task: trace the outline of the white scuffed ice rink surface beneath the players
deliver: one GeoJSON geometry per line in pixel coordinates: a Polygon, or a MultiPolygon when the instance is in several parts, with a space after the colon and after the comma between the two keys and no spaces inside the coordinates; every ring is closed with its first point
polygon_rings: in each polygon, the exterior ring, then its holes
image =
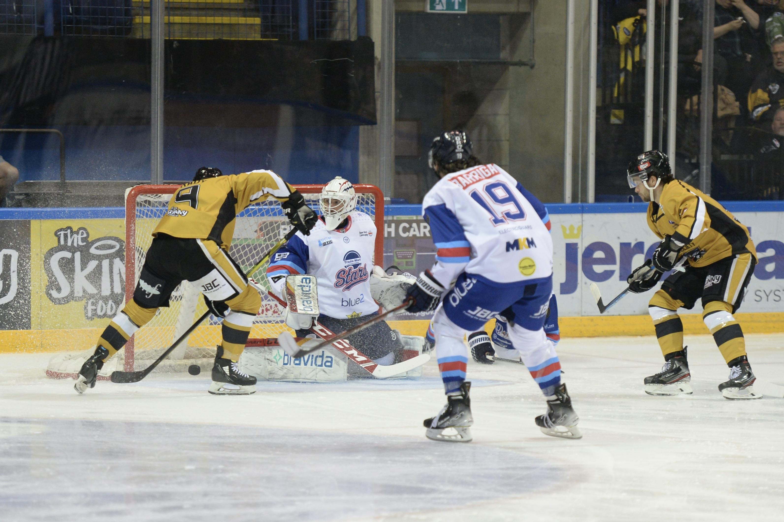
{"type": "MultiPolygon", "coordinates": [[[[784,384],[784,335],[746,337],[784,384]]],[[[728,401],[710,336],[688,336],[694,394],[652,397],[653,337],[564,339],[583,439],[547,437],[520,365],[470,362],[474,441],[424,437],[445,403],[416,381],[260,383],[209,374],[48,380],[50,355],[0,355],[0,520],[784,520],[784,399],[728,401]]]]}

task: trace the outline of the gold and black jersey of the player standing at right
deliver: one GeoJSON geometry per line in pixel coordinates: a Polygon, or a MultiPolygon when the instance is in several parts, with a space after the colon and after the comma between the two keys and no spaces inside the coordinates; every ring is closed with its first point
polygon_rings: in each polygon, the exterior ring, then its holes
{"type": "Polygon", "coordinates": [[[757,258],[746,226],[712,197],[678,180],[664,185],[659,203],[648,203],[648,226],[659,238],[669,234],[684,243],[681,255],[694,267],[746,252],[757,258]]]}

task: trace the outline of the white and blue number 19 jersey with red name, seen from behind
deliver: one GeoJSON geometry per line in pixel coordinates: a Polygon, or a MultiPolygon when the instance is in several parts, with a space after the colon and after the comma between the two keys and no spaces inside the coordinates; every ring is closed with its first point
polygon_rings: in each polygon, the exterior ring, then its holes
{"type": "Polygon", "coordinates": [[[441,178],[426,194],[422,211],[437,248],[430,272],[447,288],[460,272],[494,283],[553,274],[544,205],[498,165],[441,178]]]}

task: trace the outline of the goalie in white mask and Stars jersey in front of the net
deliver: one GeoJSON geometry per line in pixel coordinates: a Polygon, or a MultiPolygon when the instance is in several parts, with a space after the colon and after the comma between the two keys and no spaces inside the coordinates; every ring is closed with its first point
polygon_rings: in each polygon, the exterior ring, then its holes
{"type": "MultiPolygon", "coordinates": [[[[272,290],[284,297],[287,275],[315,275],[321,311],[318,321],[340,333],[367,321],[368,315],[379,313],[379,304],[373,299],[371,290],[371,279],[376,277],[373,253],[378,231],[368,214],[354,210],[357,196],[346,179],[337,177],[325,185],[319,203],[322,215],[310,236],[297,232],[289,239],[272,257],[267,279],[272,290]]],[[[313,324],[311,315],[293,313],[288,308],[285,313],[286,324],[296,331],[297,337],[314,337],[309,330],[313,324]]],[[[348,340],[380,365],[401,362],[403,343],[408,343],[383,321],[355,333],[348,340]]],[[[352,371],[356,376],[370,375],[353,366],[350,366],[351,370],[359,370],[352,371]]]]}

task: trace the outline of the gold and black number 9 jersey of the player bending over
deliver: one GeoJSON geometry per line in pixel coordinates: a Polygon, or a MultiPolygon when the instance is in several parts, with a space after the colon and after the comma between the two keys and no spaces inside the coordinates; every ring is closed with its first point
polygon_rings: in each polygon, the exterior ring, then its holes
{"type": "Polygon", "coordinates": [[[294,191],[271,171],[251,171],[189,182],[173,194],[169,209],[152,232],[169,236],[212,239],[227,250],[234,224],[251,203],[270,196],[284,202],[294,191]]]}

